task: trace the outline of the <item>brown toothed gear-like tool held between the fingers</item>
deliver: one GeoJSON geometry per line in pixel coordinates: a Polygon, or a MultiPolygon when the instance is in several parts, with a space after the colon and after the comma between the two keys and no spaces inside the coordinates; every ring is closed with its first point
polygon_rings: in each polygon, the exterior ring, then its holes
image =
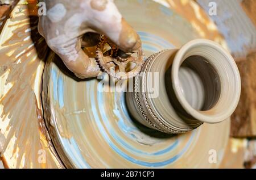
{"type": "Polygon", "coordinates": [[[125,53],[104,35],[100,37],[96,55],[96,61],[101,70],[117,79],[137,76],[144,64],[142,49],[137,52],[125,53]]]}

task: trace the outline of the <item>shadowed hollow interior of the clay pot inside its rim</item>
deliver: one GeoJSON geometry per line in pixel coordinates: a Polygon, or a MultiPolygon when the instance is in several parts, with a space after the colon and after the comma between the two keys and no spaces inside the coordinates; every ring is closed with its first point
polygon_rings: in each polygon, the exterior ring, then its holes
{"type": "Polygon", "coordinates": [[[202,56],[189,56],[183,61],[179,81],[185,99],[196,110],[207,111],[220,98],[220,77],[202,56]]]}

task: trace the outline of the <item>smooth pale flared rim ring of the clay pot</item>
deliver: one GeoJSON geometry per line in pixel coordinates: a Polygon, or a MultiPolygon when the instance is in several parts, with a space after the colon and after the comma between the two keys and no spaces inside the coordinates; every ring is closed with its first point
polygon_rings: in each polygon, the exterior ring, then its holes
{"type": "Polygon", "coordinates": [[[172,64],[172,82],[173,82],[172,86],[174,88],[175,95],[176,95],[179,103],[181,104],[181,106],[184,108],[184,110],[189,115],[193,116],[193,118],[196,118],[197,120],[200,120],[201,122],[219,123],[225,119],[228,119],[230,117],[230,115],[233,114],[234,110],[237,107],[239,99],[240,99],[241,78],[240,78],[240,73],[237,68],[236,62],[234,61],[234,59],[230,55],[230,53],[228,51],[226,51],[224,48],[222,48],[220,44],[218,44],[214,41],[207,40],[207,39],[192,40],[180,48],[180,50],[177,52],[177,54],[174,58],[174,62],[172,64]],[[184,57],[185,53],[187,53],[189,51],[189,49],[191,49],[193,47],[198,47],[199,45],[203,45],[204,47],[207,46],[210,48],[214,48],[218,52],[220,52],[221,55],[223,55],[226,58],[227,63],[229,63],[229,65],[232,67],[232,72],[234,74],[236,92],[234,93],[235,95],[232,99],[232,103],[229,104],[229,107],[226,107],[225,110],[223,110],[221,113],[218,113],[218,114],[210,114],[210,113],[207,114],[207,111],[209,111],[209,110],[200,111],[200,110],[196,110],[195,108],[193,108],[185,99],[185,97],[182,93],[182,90],[180,88],[181,86],[180,86],[180,82],[179,82],[179,68],[184,61],[183,57],[184,57]]]}

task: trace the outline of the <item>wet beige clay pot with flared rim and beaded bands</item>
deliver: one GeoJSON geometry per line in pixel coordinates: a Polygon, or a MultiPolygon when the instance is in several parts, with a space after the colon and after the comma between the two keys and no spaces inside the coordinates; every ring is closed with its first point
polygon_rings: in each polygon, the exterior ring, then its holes
{"type": "Polygon", "coordinates": [[[150,56],[126,102],[130,114],[147,127],[184,133],[228,119],[240,91],[232,56],[217,43],[198,39],[150,56]]]}

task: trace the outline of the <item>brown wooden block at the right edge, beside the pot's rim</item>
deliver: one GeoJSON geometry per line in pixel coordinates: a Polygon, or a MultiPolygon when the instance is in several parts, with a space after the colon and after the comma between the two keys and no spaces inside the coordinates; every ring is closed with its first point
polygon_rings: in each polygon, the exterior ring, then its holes
{"type": "Polygon", "coordinates": [[[232,115],[231,136],[256,137],[256,51],[237,59],[242,90],[240,102],[232,115]]]}

